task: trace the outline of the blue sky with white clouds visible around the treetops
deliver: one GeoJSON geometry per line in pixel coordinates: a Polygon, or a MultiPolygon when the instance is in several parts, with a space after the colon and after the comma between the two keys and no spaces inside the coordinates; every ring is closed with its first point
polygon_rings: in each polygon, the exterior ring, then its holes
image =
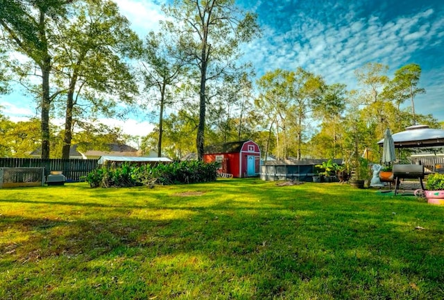
{"type": "MultiPolygon", "coordinates": [[[[158,30],[160,5],[169,0],[117,0],[121,13],[144,37],[158,30]]],[[[256,12],[262,38],[245,46],[257,76],[277,68],[302,67],[327,83],[356,88],[355,69],[383,63],[389,76],[403,65],[422,67],[416,112],[444,121],[444,4],[442,0],[237,0],[256,12]]],[[[3,112],[18,119],[35,115],[35,104],[19,92],[0,96],[3,112]]],[[[405,104],[406,106],[409,103],[405,104]]],[[[112,124],[112,120],[108,120],[112,124]]],[[[144,116],[114,122],[126,133],[145,135],[153,128],[144,116]]]]}

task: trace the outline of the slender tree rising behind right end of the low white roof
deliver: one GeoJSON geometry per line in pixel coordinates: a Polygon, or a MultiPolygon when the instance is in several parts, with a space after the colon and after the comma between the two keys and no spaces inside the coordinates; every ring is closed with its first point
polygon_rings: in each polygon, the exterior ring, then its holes
{"type": "MultiPolygon", "coordinates": [[[[180,37],[179,37],[180,38],[180,37]]],[[[159,108],[157,136],[157,157],[162,156],[162,135],[164,110],[173,101],[176,85],[187,70],[188,56],[180,49],[178,42],[164,33],[148,33],[142,51],[142,76],[145,88],[157,91],[154,94],[159,108]]]]}

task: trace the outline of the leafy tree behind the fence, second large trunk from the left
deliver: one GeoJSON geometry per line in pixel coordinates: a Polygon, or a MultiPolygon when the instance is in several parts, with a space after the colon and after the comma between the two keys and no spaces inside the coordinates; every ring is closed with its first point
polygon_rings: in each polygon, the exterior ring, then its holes
{"type": "MultiPolygon", "coordinates": [[[[58,26],[64,36],[55,51],[56,83],[66,95],[62,158],[69,158],[74,126],[97,114],[114,116],[119,101],[131,103],[137,85],[127,56],[140,42],[112,1],[85,0],[74,6],[71,22],[58,26]]],[[[85,128],[83,128],[85,129],[85,128]]]]}

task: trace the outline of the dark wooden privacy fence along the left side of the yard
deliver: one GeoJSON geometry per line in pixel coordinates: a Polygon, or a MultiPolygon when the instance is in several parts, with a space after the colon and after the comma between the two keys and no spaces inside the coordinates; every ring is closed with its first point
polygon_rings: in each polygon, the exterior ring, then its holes
{"type": "Polygon", "coordinates": [[[0,167],[44,167],[45,176],[51,171],[62,171],[67,182],[77,182],[81,176],[86,176],[97,168],[97,161],[96,159],[0,158],[0,167]]]}

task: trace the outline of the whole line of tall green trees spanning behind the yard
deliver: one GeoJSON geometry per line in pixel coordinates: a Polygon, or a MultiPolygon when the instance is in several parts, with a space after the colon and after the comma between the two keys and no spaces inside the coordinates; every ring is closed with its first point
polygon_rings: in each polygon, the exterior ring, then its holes
{"type": "Polygon", "coordinates": [[[196,152],[200,160],[205,144],[247,139],[278,158],[356,158],[385,128],[437,125],[415,113],[425,92],[416,64],[388,78],[388,66],[368,63],[355,72],[355,90],[301,67],[255,80],[241,46],[261,28],[234,0],[175,0],[162,7],[160,31],[144,38],[112,1],[0,0],[0,7],[0,93],[18,83],[40,112],[17,124],[0,115],[3,136],[11,136],[0,142],[2,156],[26,155],[38,143],[42,158],[69,158],[71,144],[126,142],[97,121],[131,112],[156,118],[155,131],[139,140],[142,151],[196,152]],[[411,106],[402,110],[405,101],[411,106]],[[64,126],[53,126],[53,117],[64,126]],[[34,136],[20,140],[31,134],[27,126],[34,136]]]}

